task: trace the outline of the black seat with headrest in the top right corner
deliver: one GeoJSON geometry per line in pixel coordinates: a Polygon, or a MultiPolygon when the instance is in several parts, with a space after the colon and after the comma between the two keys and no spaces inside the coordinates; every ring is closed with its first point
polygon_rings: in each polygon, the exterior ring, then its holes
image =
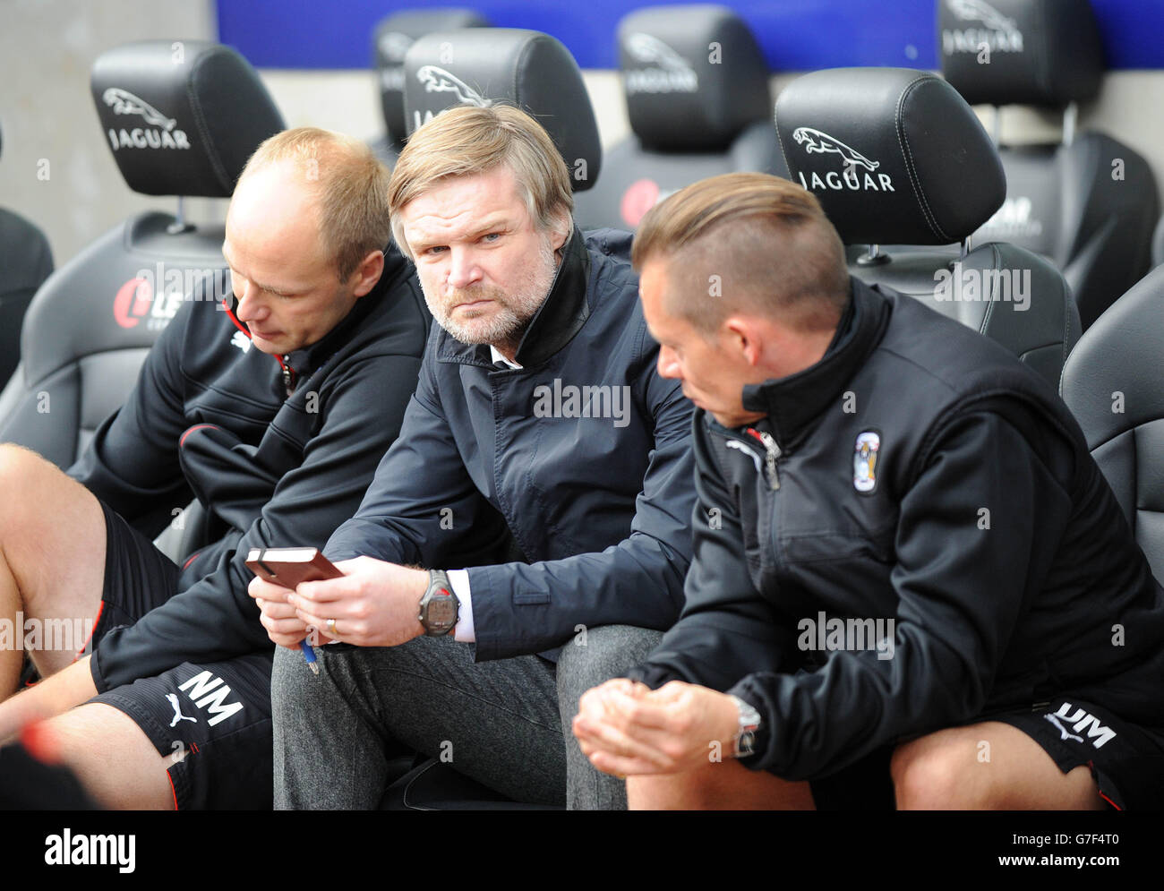
{"type": "Polygon", "coordinates": [[[1063,111],[1063,141],[1000,148],[1007,199],[974,234],[1046,256],[1086,330],[1149,269],[1159,214],[1151,168],[1102,133],[1074,133],[1076,104],[1099,93],[1103,49],[1087,0],[941,0],[946,79],[974,105],[1063,111]],[[985,49],[984,49],[985,47],[985,49]]]}

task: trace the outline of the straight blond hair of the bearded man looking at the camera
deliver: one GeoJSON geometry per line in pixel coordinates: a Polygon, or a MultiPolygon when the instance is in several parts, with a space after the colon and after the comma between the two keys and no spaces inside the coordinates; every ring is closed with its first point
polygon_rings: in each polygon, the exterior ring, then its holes
{"type": "Polygon", "coordinates": [[[570,175],[545,128],[510,105],[457,106],[413,133],[392,169],[388,203],[392,235],[404,255],[412,257],[399,217],[409,201],[448,177],[488,174],[502,165],[513,171],[518,193],[538,228],[569,234],[570,175]]]}

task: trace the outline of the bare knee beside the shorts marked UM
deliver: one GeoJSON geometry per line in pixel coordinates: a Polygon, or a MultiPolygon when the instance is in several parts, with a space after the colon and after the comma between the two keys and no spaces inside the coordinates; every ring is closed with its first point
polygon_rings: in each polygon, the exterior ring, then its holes
{"type": "Polygon", "coordinates": [[[938,730],[899,745],[889,772],[903,811],[1106,806],[1086,764],[1064,773],[1042,745],[999,721],[938,730]]]}

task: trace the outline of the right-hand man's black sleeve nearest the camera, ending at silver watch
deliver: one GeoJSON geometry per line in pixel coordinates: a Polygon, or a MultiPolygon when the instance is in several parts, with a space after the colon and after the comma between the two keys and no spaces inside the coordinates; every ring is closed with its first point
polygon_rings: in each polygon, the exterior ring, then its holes
{"type": "Polygon", "coordinates": [[[731,692],[764,720],[745,764],[807,779],[980,714],[1070,515],[1069,493],[1007,420],[949,424],[901,502],[890,657],[838,651],[814,672],[744,678],[731,692]]]}

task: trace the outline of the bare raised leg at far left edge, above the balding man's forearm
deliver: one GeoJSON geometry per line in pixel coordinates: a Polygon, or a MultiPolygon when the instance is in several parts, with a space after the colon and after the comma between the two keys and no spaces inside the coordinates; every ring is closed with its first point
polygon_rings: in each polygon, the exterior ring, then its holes
{"type": "MultiPolygon", "coordinates": [[[[23,618],[64,620],[71,646],[29,651],[42,676],[69,665],[85,641],[73,639],[92,627],[105,578],[105,517],[88,489],[35,452],[0,445],[0,620],[9,620],[23,639],[23,618]],[[88,621],[86,621],[88,620],[88,621]],[[73,634],[76,631],[77,634],[73,634]]],[[[57,624],[58,629],[64,625],[57,624]]],[[[0,701],[20,681],[24,651],[0,650],[0,701]]]]}

